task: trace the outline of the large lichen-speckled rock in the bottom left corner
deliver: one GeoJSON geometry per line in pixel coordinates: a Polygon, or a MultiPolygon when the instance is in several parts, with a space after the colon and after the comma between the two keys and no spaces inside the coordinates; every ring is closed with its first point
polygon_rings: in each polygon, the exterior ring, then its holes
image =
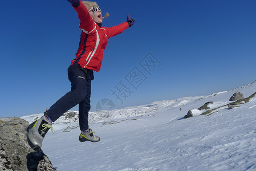
{"type": "Polygon", "coordinates": [[[49,158],[27,143],[29,123],[19,117],[0,118],[0,170],[55,170],[49,158]]]}

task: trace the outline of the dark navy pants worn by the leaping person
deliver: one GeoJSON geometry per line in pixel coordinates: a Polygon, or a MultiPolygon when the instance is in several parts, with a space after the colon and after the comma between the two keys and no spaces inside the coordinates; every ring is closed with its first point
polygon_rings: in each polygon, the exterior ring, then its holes
{"type": "Polygon", "coordinates": [[[94,72],[73,64],[68,68],[68,79],[71,82],[71,91],[61,97],[54,105],[44,112],[52,121],[57,120],[64,112],[79,104],[80,130],[88,129],[88,112],[91,109],[91,80],[94,72]]]}

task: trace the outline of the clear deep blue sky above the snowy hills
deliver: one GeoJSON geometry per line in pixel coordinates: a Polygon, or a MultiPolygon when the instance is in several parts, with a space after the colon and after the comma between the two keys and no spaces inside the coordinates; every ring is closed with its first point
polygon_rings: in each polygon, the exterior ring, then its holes
{"type": "MultiPolygon", "coordinates": [[[[109,39],[92,81],[91,111],[101,99],[123,108],[256,80],[254,0],[97,3],[110,14],[104,27],[125,22],[127,14],[136,22],[109,39]]],[[[0,18],[0,117],[42,113],[70,91],[78,16],[67,1],[14,0],[2,2],[0,18]]]]}

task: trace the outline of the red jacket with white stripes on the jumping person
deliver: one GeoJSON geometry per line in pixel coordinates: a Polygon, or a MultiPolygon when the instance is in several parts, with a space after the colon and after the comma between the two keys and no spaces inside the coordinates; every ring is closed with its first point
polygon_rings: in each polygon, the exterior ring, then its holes
{"type": "Polygon", "coordinates": [[[82,30],[78,52],[74,63],[80,64],[83,68],[94,71],[100,71],[103,60],[103,51],[107,46],[108,39],[120,34],[129,27],[127,22],[114,27],[99,27],[89,14],[86,6],[80,3],[80,6],[74,7],[78,18],[80,19],[79,28],[82,30]]]}

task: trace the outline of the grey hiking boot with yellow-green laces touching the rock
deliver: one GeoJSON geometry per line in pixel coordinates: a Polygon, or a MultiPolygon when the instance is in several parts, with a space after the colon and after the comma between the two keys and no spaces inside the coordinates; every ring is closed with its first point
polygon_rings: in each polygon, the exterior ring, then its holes
{"type": "Polygon", "coordinates": [[[46,120],[45,116],[34,121],[34,123],[27,127],[27,142],[32,149],[36,151],[40,150],[43,138],[50,128],[52,131],[51,123],[46,120]]]}

